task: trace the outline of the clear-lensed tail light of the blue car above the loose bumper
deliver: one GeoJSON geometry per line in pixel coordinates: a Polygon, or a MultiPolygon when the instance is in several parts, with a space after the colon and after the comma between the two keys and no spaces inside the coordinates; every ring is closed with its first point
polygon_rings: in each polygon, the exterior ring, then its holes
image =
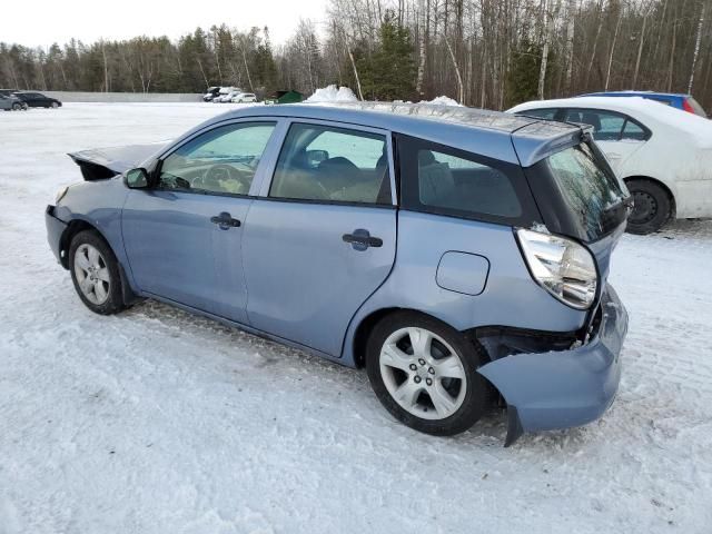
{"type": "Polygon", "coordinates": [[[589,249],[571,239],[538,231],[520,229],[516,236],[534,280],[573,308],[591,307],[599,275],[589,249]]]}

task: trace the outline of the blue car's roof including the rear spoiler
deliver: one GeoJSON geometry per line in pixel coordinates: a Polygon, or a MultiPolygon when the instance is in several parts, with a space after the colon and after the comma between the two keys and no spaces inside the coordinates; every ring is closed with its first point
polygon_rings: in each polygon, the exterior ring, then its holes
{"type": "Polygon", "coordinates": [[[385,102],[254,106],[228,111],[198,129],[244,117],[304,118],[385,129],[523,167],[565,145],[581,142],[582,135],[580,126],[501,111],[385,102]]]}

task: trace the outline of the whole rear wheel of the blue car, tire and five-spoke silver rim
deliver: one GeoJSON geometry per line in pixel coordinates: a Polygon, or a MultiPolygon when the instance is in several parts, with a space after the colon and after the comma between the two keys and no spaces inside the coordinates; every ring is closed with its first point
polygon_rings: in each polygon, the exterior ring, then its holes
{"type": "Polygon", "coordinates": [[[384,318],[366,348],[368,378],[384,407],[411,428],[439,436],[464,432],[484,414],[481,364],[461,333],[415,312],[384,318]]]}

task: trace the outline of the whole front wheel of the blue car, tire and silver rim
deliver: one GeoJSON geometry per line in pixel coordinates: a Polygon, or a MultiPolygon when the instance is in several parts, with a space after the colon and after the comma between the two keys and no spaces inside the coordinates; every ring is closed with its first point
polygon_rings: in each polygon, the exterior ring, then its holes
{"type": "Polygon", "coordinates": [[[125,308],[119,264],[99,234],[77,234],[69,247],[69,268],[81,301],[96,314],[110,315],[125,308]]]}

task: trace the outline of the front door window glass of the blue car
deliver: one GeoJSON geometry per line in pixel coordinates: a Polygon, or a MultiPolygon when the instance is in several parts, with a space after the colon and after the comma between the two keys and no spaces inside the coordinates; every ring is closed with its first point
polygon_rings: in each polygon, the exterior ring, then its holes
{"type": "Polygon", "coordinates": [[[275,122],[228,125],[210,130],[168,156],[159,189],[247,195],[275,122]]]}

